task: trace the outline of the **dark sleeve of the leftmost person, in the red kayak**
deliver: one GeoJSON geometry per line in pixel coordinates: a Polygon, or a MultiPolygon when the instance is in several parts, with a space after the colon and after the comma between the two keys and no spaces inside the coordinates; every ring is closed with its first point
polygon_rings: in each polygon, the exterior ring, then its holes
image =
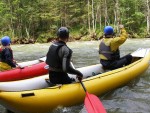
{"type": "Polygon", "coordinates": [[[16,67],[16,64],[13,62],[13,58],[12,58],[12,53],[9,49],[5,49],[4,52],[4,56],[5,56],[5,62],[10,65],[11,67],[16,67]]]}

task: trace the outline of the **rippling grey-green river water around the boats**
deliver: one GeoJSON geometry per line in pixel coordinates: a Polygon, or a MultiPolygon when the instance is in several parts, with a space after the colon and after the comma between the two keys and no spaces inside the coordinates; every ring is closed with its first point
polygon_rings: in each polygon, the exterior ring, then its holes
{"type": "MultiPolygon", "coordinates": [[[[99,41],[68,42],[67,44],[73,50],[72,58],[76,68],[99,63],[99,41]]],[[[12,45],[14,58],[18,62],[38,59],[46,55],[49,45],[50,43],[12,45]]],[[[150,39],[128,39],[120,47],[121,56],[138,48],[150,48],[150,39]]],[[[108,92],[100,99],[107,113],[150,113],[150,68],[139,78],[124,87],[108,92]]],[[[0,106],[0,113],[4,111],[5,108],[0,106]]],[[[81,104],[58,108],[53,113],[86,113],[86,110],[84,104],[81,104]]]]}

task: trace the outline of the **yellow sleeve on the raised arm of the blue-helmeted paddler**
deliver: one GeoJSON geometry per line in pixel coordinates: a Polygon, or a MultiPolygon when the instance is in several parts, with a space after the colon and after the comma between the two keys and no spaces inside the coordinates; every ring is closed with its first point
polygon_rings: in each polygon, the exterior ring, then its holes
{"type": "Polygon", "coordinates": [[[112,39],[111,50],[116,51],[119,48],[119,46],[122,45],[126,41],[127,37],[128,35],[127,35],[126,30],[122,28],[120,37],[115,37],[112,39]]]}

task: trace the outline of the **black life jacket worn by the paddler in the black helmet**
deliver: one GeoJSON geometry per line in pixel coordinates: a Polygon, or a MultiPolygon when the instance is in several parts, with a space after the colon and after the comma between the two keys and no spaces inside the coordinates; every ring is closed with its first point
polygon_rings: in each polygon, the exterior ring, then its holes
{"type": "Polygon", "coordinates": [[[50,68],[62,70],[62,59],[59,57],[58,52],[62,46],[66,46],[64,42],[53,43],[47,53],[46,63],[50,68]]]}

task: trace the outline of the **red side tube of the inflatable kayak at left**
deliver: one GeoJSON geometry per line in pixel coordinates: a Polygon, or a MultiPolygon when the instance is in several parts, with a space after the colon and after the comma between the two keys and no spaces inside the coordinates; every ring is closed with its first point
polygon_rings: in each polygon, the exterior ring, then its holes
{"type": "Polygon", "coordinates": [[[45,69],[46,63],[39,62],[24,68],[15,68],[0,72],[0,82],[4,81],[16,81],[22,79],[28,79],[48,73],[48,69],[45,69]]]}

